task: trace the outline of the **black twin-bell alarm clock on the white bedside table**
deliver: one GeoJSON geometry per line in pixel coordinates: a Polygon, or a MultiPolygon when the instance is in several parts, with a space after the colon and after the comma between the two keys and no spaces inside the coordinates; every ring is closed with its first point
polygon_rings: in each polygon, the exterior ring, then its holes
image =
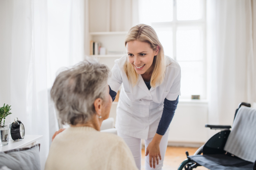
{"type": "Polygon", "coordinates": [[[13,140],[20,140],[25,136],[25,128],[17,117],[15,119],[11,126],[11,136],[13,140]],[[17,119],[17,121],[15,121],[15,119],[17,119]]]}

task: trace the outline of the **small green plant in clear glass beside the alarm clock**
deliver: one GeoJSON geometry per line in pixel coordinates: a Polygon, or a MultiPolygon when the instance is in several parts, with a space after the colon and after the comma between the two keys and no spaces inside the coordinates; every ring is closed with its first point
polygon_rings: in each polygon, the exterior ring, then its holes
{"type": "Polygon", "coordinates": [[[5,104],[0,108],[0,146],[5,146],[9,143],[11,123],[5,122],[5,118],[9,114],[12,114],[10,110],[11,106],[5,104]]]}

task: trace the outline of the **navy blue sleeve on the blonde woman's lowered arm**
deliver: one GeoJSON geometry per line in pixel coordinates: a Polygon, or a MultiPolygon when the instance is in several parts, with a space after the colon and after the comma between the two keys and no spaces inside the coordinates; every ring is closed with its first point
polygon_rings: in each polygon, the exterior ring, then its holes
{"type": "Polygon", "coordinates": [[[170,123],[172,122],[172,118],[174,116],[178,102],[179,102],[179,96],[174,101],[164,99],[163,114],[160,119],[159,125],[157,127],[157,134],[164,135],[166,133],[170,123]]]}

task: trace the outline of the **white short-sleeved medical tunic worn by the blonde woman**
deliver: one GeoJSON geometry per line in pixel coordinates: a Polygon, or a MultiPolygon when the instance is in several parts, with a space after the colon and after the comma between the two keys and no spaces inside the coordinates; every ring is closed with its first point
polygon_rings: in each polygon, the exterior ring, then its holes
{"type": "Polygon", "coordinates": [[[116,108],[115,127],[119,133],[140,139],[154,137],[163,113],[164,99],[176,100],[180,95],[180,65],[171,57],[167,60],[164,81],[150,90],[141,75],[134,87],[129,82],[124,71],[126,55],[115,60],[108,85],[115,92],[122,85],[116,108]]]}

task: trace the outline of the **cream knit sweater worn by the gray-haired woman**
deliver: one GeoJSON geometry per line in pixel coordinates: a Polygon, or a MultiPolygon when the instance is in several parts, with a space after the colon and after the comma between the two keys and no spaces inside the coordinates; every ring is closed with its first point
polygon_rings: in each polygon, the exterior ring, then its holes
{"type": "Polygon", "coordinates": [[[45,170],[137,170],[119,136],[92,127],[69,127],[53,140],[45,170]]]}

